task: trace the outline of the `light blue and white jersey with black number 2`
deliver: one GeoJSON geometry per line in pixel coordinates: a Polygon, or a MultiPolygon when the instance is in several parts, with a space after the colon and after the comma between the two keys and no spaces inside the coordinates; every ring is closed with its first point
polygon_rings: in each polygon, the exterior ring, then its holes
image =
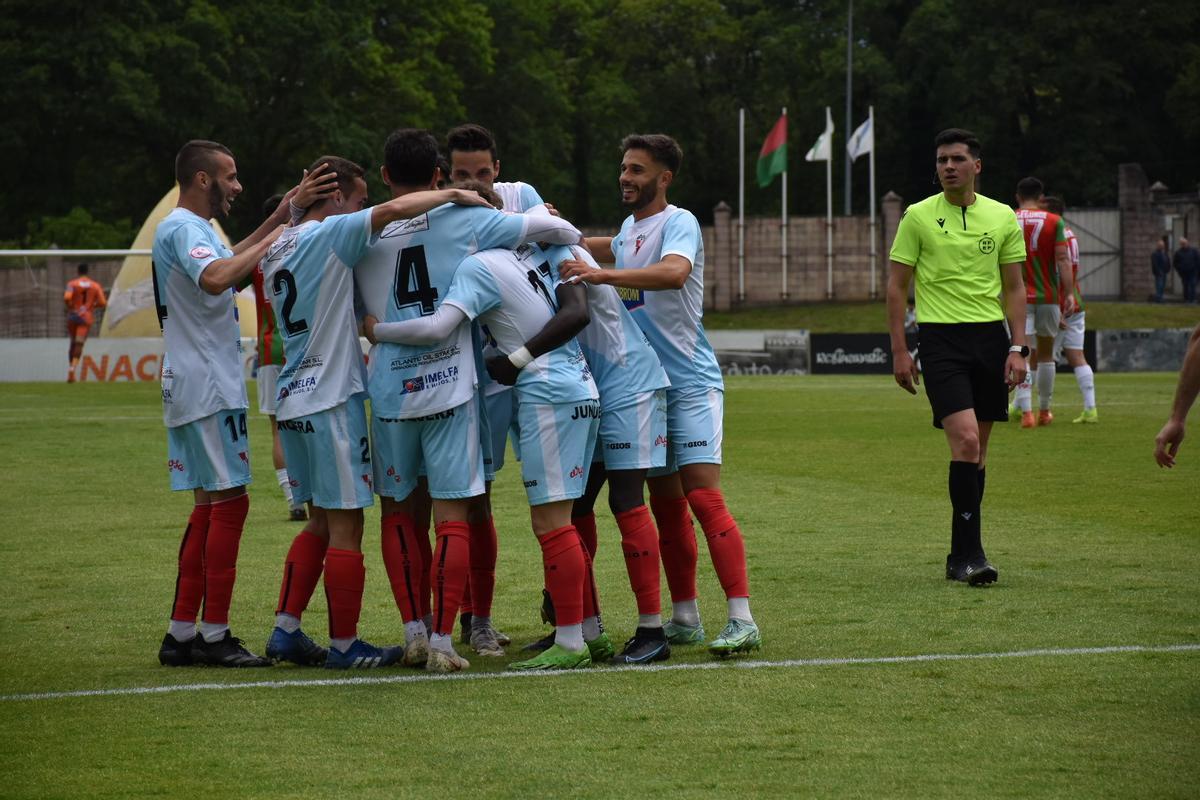
{"type": "Polygon", "coordinates": [[[277,420],[324,411],[366,391],[350,270],[371,237],[371,209],[364,209],[288,228],[266,251],[263,287],[286,359],[277,420]]]}

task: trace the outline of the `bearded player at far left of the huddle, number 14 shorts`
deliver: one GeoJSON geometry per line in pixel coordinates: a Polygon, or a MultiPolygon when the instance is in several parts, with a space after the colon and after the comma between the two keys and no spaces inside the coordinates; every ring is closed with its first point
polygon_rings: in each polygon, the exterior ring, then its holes
{"type": "Polygon", "coordinates": [[[227,216],[241,193],[229,149],[188,142],[175,157],[175,180],[179,204],[155,230],[151,278],[166,343],[167,468],[172,488],[191,489],[194,506],[179,547],[175,597],[158,661],[172,667],[265,667],[269,660],[247,651],[229,632],[238,547],[250,511],[247,401],[233,290],[280,235],[288,203],[281,201],[229,249],[209,222],[227,216]]]}

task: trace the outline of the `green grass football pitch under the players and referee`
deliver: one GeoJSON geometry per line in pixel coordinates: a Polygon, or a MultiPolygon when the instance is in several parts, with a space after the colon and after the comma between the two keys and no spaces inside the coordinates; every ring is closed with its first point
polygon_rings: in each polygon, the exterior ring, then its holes
{"type": "MultiPolygon", "coordinates": [[[[1100,374],[1100,425],[1085,427],[1061,375],[1054,426],[997,427],[983,524],[1001,579],[970,589],[942,577],[948,455],[923,396],[886,375],[728,380],[724,485],[766,639],[757,667],[702,669],[709,657],[680,648],[682,668],[653,673],[512,678],[472,657],[496,679],[397,668],[358,685],[42,699],[14,696],[343,675],[160,667],[191,500],[167,489],[157,387],[6,385],[0,796],[1196,796],[1200,651],[1070,652],[1200,643],[1200,427],[1175,470],[1151,456],[1174,383],[1100,374]],[[1038,649],[1068,652],[814,662],[1038,649]],[[389,676],[415,680],[376,680],[389,676]]],[[[251,437],[232,622],[260,651],[296,525],[265,417],[251,437]]],[[[523,643],[545,628],[516,479],[510,464],[496,487],[493,616],[523,643]]],[[[619,644],[634,604],[599,518],[619,644]]],[[[368,510],[361,632],[389,643],[402,631],[377,521],[368,510]]],[[[703,545],[700,588],[715,633],[703,545]]],[[[324,638],[319,590],[305,627],[324,638]]]]}

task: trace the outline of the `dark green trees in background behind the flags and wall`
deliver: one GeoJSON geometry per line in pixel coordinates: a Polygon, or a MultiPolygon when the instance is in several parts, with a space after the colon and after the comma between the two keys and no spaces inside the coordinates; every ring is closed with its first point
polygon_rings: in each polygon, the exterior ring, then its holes
{"type": "MultiPolygon", "coordinates": [[[[787,106],[788,206],[824,211],[824,166],[803,155],[833,107],[842,209],[846,0],[0,0],[0,241],[127,247],[190,138],[227,144],[241,235],[322,154],[376,175],[396,127],[491,128],[502,179],[526,180],[580,224],[616,227],[618,143],[665,132],[684,149],[672,200],[702,219],[737,200],[746,108],[746,211],[787,106]]],[[[1172,191],[1200,180],[1200,5],[856,0],[853,125],[875,106],[877,186],[935,191],[934,134],[984,143],[984,193],[1037,174],[1074,205],[1114,205],[1116,164],[1172,191]]],[[[853,209],[866,212],[866,167],[853,209]]]]}

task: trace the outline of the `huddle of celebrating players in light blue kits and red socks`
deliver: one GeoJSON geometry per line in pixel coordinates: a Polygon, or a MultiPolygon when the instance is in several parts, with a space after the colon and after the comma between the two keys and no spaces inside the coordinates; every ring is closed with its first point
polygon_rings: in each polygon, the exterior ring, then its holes
{"type": "Polygon", "coordinates": [[[728,604],[708,650],[761,646],[745,547],[720,488],[724,386],[701,323],[703,242],[696,218],[666,199],[683,154],[661,134],[626,137],[622,150],[630,216],[611,237],[583,237],[527,184],[496,182],[494,140],[464,125],[450,131],[446,158],[428,132],[395,131],[380,170],[391,199],[370,207],[361,167],[318,158],[230,249],[209,219],[241,191],[233,155],[184,145],[179,206],[154,243],[168,468],[172,488],[196,498],[163,664],[456,672],[469,667],[454,646],[460,619],[474,652],[504,656],[511,642],[491,619],[490,495],[509,438],[541,548],[542,616],[554,626],[512,668],[644,664],[668,658],[672,644],[706,642],[694,516],[728,604]],[[455,185],[439,188],[446,173],[455,185]],[[308,504],[265,657],[228,625],[250,482],[233,291],[256,269],[283,356],[260,397],[289,499],[308,504]],[[372,345],[366,362],[360,335],[372,345]],[[637,603],[620,652],[592,569],[605,482],[637,603]],[[358,637],[362,509],[376,495],[404,628],[396,646],[358,637]],[[301,627],[322,579],[328,648],[301,627]]]}

